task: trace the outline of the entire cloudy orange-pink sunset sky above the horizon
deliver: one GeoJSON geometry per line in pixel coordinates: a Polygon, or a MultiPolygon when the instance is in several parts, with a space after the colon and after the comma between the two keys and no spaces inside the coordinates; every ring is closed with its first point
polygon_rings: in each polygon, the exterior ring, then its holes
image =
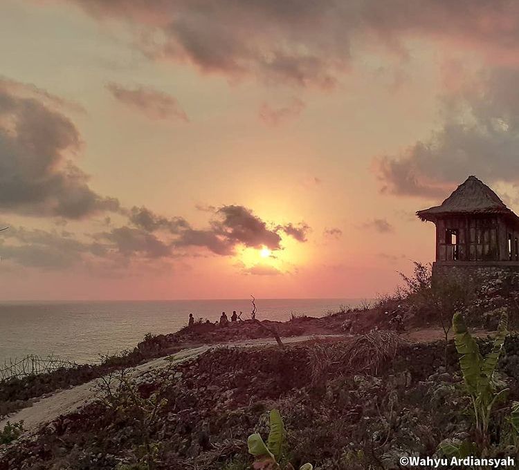
{"type": "Polygon", "coordinates": [[[519,3],[3,0],[0,299],[361,298],[519,209],[519,3]]]}

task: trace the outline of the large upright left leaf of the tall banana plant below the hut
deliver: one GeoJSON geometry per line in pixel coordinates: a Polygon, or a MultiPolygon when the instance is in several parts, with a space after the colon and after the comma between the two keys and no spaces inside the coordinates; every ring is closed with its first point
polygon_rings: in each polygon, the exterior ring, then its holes
{"type": "Polygon", "coordinates": [[[477,395],[480,388],[482,357],[480,348],[466,329],[462,314],[453,316],[454,343],[459,354],[459,367],[462,369],[463,379],[468,393],[477,395]]]}

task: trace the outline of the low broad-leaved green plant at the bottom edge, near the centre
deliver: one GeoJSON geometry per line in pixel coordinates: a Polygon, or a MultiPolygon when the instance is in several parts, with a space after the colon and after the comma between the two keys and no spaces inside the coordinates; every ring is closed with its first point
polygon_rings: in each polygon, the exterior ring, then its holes
{"type": "MultiPolygon", "coordinates": [[[[256,470],[293,470],[290,462],[283,462],[283,446],[285,439],[285,429],[280,412],[276,409],[271,411],[271,429],[268,433],[268,440],[265,442],[259,433],[248,436],[248,453],[254,456],[254,468],[256,470]],[[283,463],[283,467],[280,466],[283,463]]],[[[313,470],[311,464],[303,464],[299,470],[313,470]]]]}

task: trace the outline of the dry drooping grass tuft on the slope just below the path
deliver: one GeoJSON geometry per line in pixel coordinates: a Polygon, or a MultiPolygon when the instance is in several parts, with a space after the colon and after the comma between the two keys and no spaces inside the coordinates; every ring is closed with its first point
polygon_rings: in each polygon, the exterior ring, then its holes
{"type": "Polygon", "coordinates": [[[316,384],[330,375],[355,372],[377,374],[404,343],[394,332],[372,331],[349,341],[316,344],[310,355],[312,381],[316,384]]]}

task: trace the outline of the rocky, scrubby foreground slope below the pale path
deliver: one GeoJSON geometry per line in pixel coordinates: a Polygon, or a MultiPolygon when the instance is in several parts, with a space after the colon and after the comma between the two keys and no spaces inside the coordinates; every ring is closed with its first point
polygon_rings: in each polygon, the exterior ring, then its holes
{"type": "MultiPolygon", "coordinates": [[[[516,398],[519,339],[509,337],[506,350],[500,375],[511,392],[494,439],[516,398]]],[[[443,355],[441,342],[408,344],[385,332],[284,349],[218,348],[105,386],[99,400],[4,446],[0,469],[246,469],[246,438],[266,434],[274,407],[294,465],[396,469],[400,455],[432,455],[444,438],[470,435],[455,351],[447,367],[443,355]]]]}

